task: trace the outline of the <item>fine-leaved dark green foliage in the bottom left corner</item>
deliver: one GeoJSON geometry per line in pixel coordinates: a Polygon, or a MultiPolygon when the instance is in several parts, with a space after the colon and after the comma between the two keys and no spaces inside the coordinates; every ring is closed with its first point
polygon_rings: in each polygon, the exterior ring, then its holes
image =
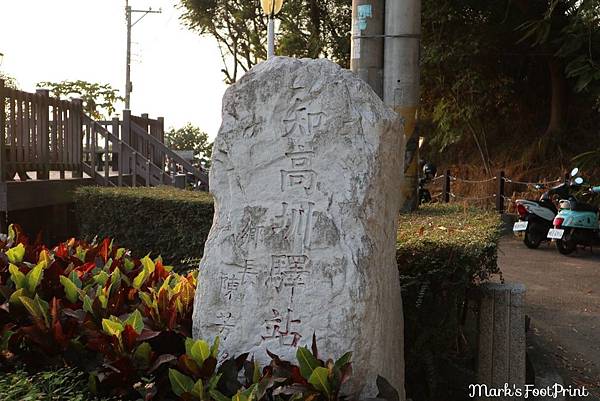
{"type": "MultiPolygon", "coordinates": [[[[87,388],[85,374],[75,368],[55,368],[31,374],[24,370],[0,374],[3,401],[109,401],[87,388]]],[[[116,401],[116,400],[115,400],[116,401]]]]}

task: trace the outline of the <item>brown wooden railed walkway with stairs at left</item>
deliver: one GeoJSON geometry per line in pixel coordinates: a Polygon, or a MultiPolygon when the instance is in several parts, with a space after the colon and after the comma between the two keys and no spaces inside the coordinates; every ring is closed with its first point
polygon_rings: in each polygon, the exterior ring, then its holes
{"type": "Polygon", "coordinates": [[[164,144],[164,120],[147,114],[94,121],[82,101],[27,93],[0,80],[0,212],[69,203],[82,185],[208,189],[205,171],[164,144]]]}

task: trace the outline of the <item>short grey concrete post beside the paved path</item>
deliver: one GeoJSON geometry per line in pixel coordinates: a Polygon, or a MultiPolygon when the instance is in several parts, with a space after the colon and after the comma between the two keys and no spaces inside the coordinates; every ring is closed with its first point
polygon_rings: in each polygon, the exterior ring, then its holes
{"type": "MultiPolygon", "coordinates": [[[[480,287],[477,383],[524,388],[525,286],[487,283],[480,287]]],[[[479,398],[484,400],[486,398],[479,398]]],[[[515,398],[494,398],[494,400],[515,398]]]]}

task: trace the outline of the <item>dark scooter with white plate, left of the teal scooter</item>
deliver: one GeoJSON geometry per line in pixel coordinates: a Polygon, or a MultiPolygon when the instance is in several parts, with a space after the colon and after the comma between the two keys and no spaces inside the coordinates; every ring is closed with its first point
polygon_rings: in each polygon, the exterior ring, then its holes
{"type": "MultiPolygon", "coordinates": [[[[543,184],[536,184],[535,188],[543,189],[543,184]]],[[[558,195],[561,198],[569,196],[570,185],[562,183],[544,192],[539,201],[517,199],[517,213],[519,221],[513,225],[513,233],[523,237],[523,243],[527,248],[536,249],[542,241],[550,241],[546,238],[548,230],[553,227],[554,217],[558,209],[552,201],[552,197],[558,195]]]]}

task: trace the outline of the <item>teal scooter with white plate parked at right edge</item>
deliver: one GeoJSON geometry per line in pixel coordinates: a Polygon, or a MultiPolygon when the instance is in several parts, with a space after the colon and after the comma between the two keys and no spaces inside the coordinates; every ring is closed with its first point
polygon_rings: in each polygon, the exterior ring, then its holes
{"type": "MultiPolygon", "coordinates": [[[[573,169],[576,176],[579,169],[573,169]]],[[[575,177],[576,186],[583,184],[583,178],[575,177]]],[[[600,194],[600,186],[590,187],[589,194],[600,194]]],[[[574,196],[559,202],[559,212],[554,218],[554,228],[548,231],[548,238],[556,242],[556,248],[563,255],[577,249],[577,245],[600,245],[600,211],[598,207],[583,203],[574,196]]]]}

